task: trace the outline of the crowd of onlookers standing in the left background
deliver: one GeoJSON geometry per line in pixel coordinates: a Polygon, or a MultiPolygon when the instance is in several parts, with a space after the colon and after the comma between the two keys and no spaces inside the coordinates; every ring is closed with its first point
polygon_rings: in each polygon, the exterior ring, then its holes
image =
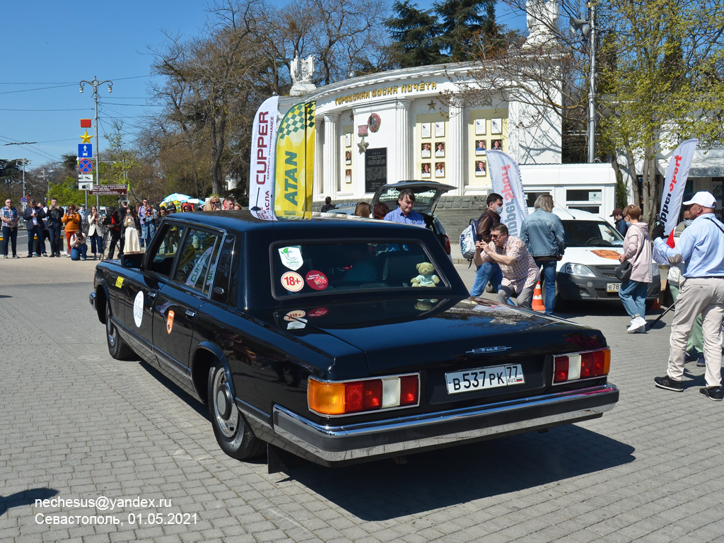
{"type": "Polygon", "coordinates": [[[87,209],[85,204],[78,207],[71,203],[62,207],[57,198],[51,198],[47,204],[31,200],[20,212],[8,198],[0,209],[3,256],[11,258],[12,251],[12,258],[20,258],[17,254],[20,219],[25,220],[25,228],[28,230],[27,258],[59,258],[64,253],[72,260],[84,261],[91,256],[93,260],[113,258],[116,250],[118,253],[144,251],[156,233],[160,220],[168,214],[177,211],[235,209],[241,209],[235,198],[228,196],[222,199],[217,194],[212,194],[203,205],[180,203],[178,208],[175,203],[154,206],[146,198],[133,205],[122,201],[118,207],[110,206],[105,215],[101,215],[96,206],[87,209]]]}

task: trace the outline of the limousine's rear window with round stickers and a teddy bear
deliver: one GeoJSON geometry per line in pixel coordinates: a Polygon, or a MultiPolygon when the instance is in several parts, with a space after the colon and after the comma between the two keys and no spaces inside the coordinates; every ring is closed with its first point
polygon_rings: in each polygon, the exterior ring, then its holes
{"type": "Polygon", "coordinates": [[[449,286],[424,245],[409,241],[276,244],[271,258],[277,298],[449,286]]]}

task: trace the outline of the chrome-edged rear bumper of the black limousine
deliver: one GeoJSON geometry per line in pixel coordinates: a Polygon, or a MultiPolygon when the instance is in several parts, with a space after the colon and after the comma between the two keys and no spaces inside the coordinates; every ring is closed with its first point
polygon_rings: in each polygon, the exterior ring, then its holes
{"type": "Polygon", "coordinates": [[[344,426],[321,425],[274,405],[278,437],[324,465],[502,437],[597,418],[618,401],[614,384],[344,426]]]}

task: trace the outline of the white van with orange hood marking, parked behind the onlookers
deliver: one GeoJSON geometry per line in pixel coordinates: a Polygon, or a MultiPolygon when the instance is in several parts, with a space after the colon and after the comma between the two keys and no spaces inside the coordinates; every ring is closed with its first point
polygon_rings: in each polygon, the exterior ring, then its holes
{"type": "MultiPolygon", "coordinates": [[[[613,270],[623,253],[623,237],[613,224],[588,211],[554,207],[553,213],[560,217],[565,231],[565,252],[557,266],[556,300],[618,300],[621,282],[613,270]]],[[[661,290],[659,266],[654,261],[651,270],[647,308],[661,290]]]]}

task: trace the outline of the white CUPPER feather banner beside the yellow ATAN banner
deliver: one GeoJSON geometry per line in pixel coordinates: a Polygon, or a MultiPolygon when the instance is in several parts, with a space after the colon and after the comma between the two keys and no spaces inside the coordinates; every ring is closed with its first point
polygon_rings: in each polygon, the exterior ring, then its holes
{"type": "Polygon", "coordinates": [[[274,152],[277,149],[279,96],[266,98],[254,116],[249,162],[249,209],[258,219],[273,221],[274,152]]]}

